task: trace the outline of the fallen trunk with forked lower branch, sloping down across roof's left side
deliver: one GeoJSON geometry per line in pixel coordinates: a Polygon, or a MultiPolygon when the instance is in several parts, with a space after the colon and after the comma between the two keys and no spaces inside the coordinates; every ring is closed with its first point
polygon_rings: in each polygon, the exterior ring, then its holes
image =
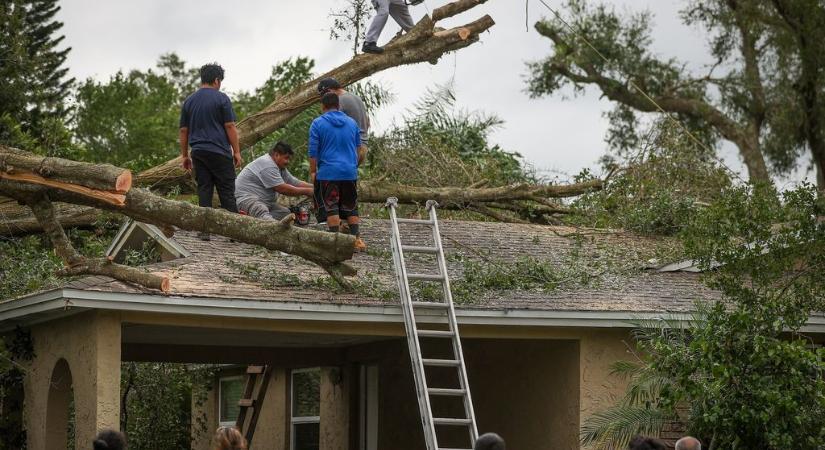
{"type": "MultiPolygon", "coordinates": [[[[59,166],[68,161],[51,158],[59,166]]],[[[289,221],[275,222],[229,213],[220,209],[200,208],[186,202],[168,200],[145,189],[131,189],[120,205],[101,199],[94,193],[77,191],[71,186],[42,186],[0,178],[0,194],[28,205],[41,228],[52,239],[57,253],[67,265],[66,274],[94,273],[140,283],[153,289],[168,291],[169,281],[113,264],[111,261],[86,259],[78,255],[65,237],[52,201],[84,205],[115,211],[136,220],[191,231],[223,235],[239,242],[260,245],[312,261],[336,280],[346,285],[344,275],[354,275],[355,269],[345,264],[352,258],[355,238],[339,233],[326,233],[291,226],[289,221]]]]}

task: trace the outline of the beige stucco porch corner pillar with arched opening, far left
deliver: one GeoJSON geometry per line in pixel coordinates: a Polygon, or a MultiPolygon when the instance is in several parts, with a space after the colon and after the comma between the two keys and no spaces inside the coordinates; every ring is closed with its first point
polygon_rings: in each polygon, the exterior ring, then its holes
{"type": "Polygon", "coordinates": [[[25,380],[25,423],[30,450],[46,450],[49,382],[65,359],[72,377],[76,448],[88,448],[98,430],[120,426],[120,316],[86,312],[32,327],[35,358],[25,380]]]}

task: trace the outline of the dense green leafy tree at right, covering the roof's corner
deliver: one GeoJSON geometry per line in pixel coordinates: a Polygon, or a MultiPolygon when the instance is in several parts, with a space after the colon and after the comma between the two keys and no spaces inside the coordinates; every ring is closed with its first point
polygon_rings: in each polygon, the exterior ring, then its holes
{"type": "Polygon", "coordinates": [[[823,215],[810,185],[781,197],[730,188],[701,210],[682,237],[725,298],[687,326],[640,329],[638,360],[616,367],[632,379],[627,397],[588,420],[582,441],[620,448],[681,419],[711,449],[821,448],[825,351],[800,330],[825,309],[823,215]]]}

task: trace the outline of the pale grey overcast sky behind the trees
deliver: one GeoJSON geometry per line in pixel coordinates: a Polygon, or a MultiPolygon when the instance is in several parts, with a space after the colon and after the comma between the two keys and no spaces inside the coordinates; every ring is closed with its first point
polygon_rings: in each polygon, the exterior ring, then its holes
{"type": "MultiPolygon", "coordinates": [[[[559,8],[563,0],[547,0],[559,8]]],[[[152,67],[158,56],[175,52],[191,65],[218,61],[226,69],[227,91],[259,86],[272,65],[294,56],[308,56],[326,71],[351,57],[348,43],[329,39],[331,9],[343,0],[62,0],[58,16],[66,43],[72,47],[71,75],[107,79],[119,69],[152,67]]],[[[427,0],[411,7],[416,20],[446,0],[427,0]]],[[[678,18],[683,1],[614,0],[622,10],[648,9],[655,15],[657,53],[678,57],[701,70],[708,62],[700,30],[678,18]]],[[[373,76],[397,94],[397,101],[376,114],[381,129],[397,120],[421,93],[454,80],[459,106],[495,113],[504,126],[493,141],[518,151],[545,175],[576,173],[597,167],[604,153],[607,127],[602,113],[610,109],[598,92],[583,97],[530,99],[525,92],[525,63],[550,52],[549,40],[532,25],[550,12],[536,0],[490,0],[470,12],[445,21],[458,25],[490,14],[496,21],[482,42],[448,55],[433,66],[393,68],[373,76]],[[525,26],[525,22],[530,27],[525,26]]],[[[398,30],[390,20],[379,44],[398,30]]],[[[725,152],[731,166],[741,169],[734,151],[725,152]]]]}

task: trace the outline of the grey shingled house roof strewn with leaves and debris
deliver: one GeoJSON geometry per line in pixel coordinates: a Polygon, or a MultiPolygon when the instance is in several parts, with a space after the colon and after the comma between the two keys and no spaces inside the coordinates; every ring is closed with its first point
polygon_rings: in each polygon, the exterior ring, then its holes
{"type": "MultiPolygon", "coordinates": [[[[720,294],[706,287],[701,274],[658,272],[656,258],[673,256],[673,243],[625,232],[490,222],[441,221],[441,234],[454,296],[459,306],[494,310],[554,310],[688,313],[696,301],[720,294]],[[532,261],[557,273],[557,282],[498,289],[495,282],[469,296],[455,290],[466,271],[495,266],[505,270],[532,261]]],[[[354,292],[343,292],[318,266],[261,247],[178,231],[172,238],[190,256],[147,266],[171,280],[180,298],[306,302],[344,305],[397,304],[395,271],[387,220],[365,220],[361,234],[369,250],[351,261],[359,275],[354,292]]],[[[404,225],[405,244],[431,243],[429,228],[404,225]]],[[[664,261],[667,262],[667,261],[664,261]]],[[[410,271],[435,268],[426,257],[408,259],[410,271]],[[422,259],[423,258],[423,259],[422,259]]],[[[495,271],[493,271],[495,273],[495,271]]],[[[476,274],[476,277],[479,275],[476,274]]],[[[482,274],[483,276],[483,274],[482,274]]],[[[95,292],[162,295],[107,277],[86,277],[66,288],[95,292]]]]}

